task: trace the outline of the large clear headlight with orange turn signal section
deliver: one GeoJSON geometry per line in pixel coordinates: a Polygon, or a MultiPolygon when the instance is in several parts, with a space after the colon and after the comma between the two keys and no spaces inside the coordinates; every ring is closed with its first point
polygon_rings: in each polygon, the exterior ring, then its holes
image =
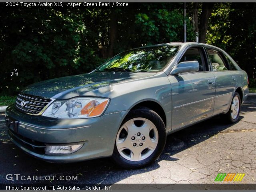
{"type": "Polygon", "coordinates": [[[73,98],[68,101],[54,101],[42,116],[68,119],[92,118],[102,115],[108,106],[109,99],[105,98],[73,98]]]}

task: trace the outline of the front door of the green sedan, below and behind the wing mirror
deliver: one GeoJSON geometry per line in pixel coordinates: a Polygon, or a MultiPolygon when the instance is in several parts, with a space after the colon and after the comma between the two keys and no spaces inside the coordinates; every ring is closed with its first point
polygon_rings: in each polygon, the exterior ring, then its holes
{"type": "Polygon", "coordinates": [[[215,99],[215,80],[203,46],[187,48],[178,63],[197,60],[198,72],[169,75],[172,86],[172,129],[212,116],[215,99]]]}

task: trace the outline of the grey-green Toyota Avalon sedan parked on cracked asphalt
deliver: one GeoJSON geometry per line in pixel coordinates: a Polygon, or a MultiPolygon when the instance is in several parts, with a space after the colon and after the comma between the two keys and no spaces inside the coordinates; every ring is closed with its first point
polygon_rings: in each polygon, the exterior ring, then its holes
{"type": "Polygon", "coordinates": [[[248,76],[220,48],[168,43],[122,52],[87,74],[27,86],[6,109],[12,142],[48,162],[109,157],[137,168],[166,135],[223,114],[234,123],[248,76]]]}

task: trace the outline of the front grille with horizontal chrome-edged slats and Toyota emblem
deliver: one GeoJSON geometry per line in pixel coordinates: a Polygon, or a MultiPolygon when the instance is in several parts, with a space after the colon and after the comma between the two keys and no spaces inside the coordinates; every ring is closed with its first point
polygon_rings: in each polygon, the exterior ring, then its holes
{"type": "Polygon", "coordinates": [[[51,101],[48,98],[18,94],[15,107],[24,113],[38,115],[51,101]]]}

